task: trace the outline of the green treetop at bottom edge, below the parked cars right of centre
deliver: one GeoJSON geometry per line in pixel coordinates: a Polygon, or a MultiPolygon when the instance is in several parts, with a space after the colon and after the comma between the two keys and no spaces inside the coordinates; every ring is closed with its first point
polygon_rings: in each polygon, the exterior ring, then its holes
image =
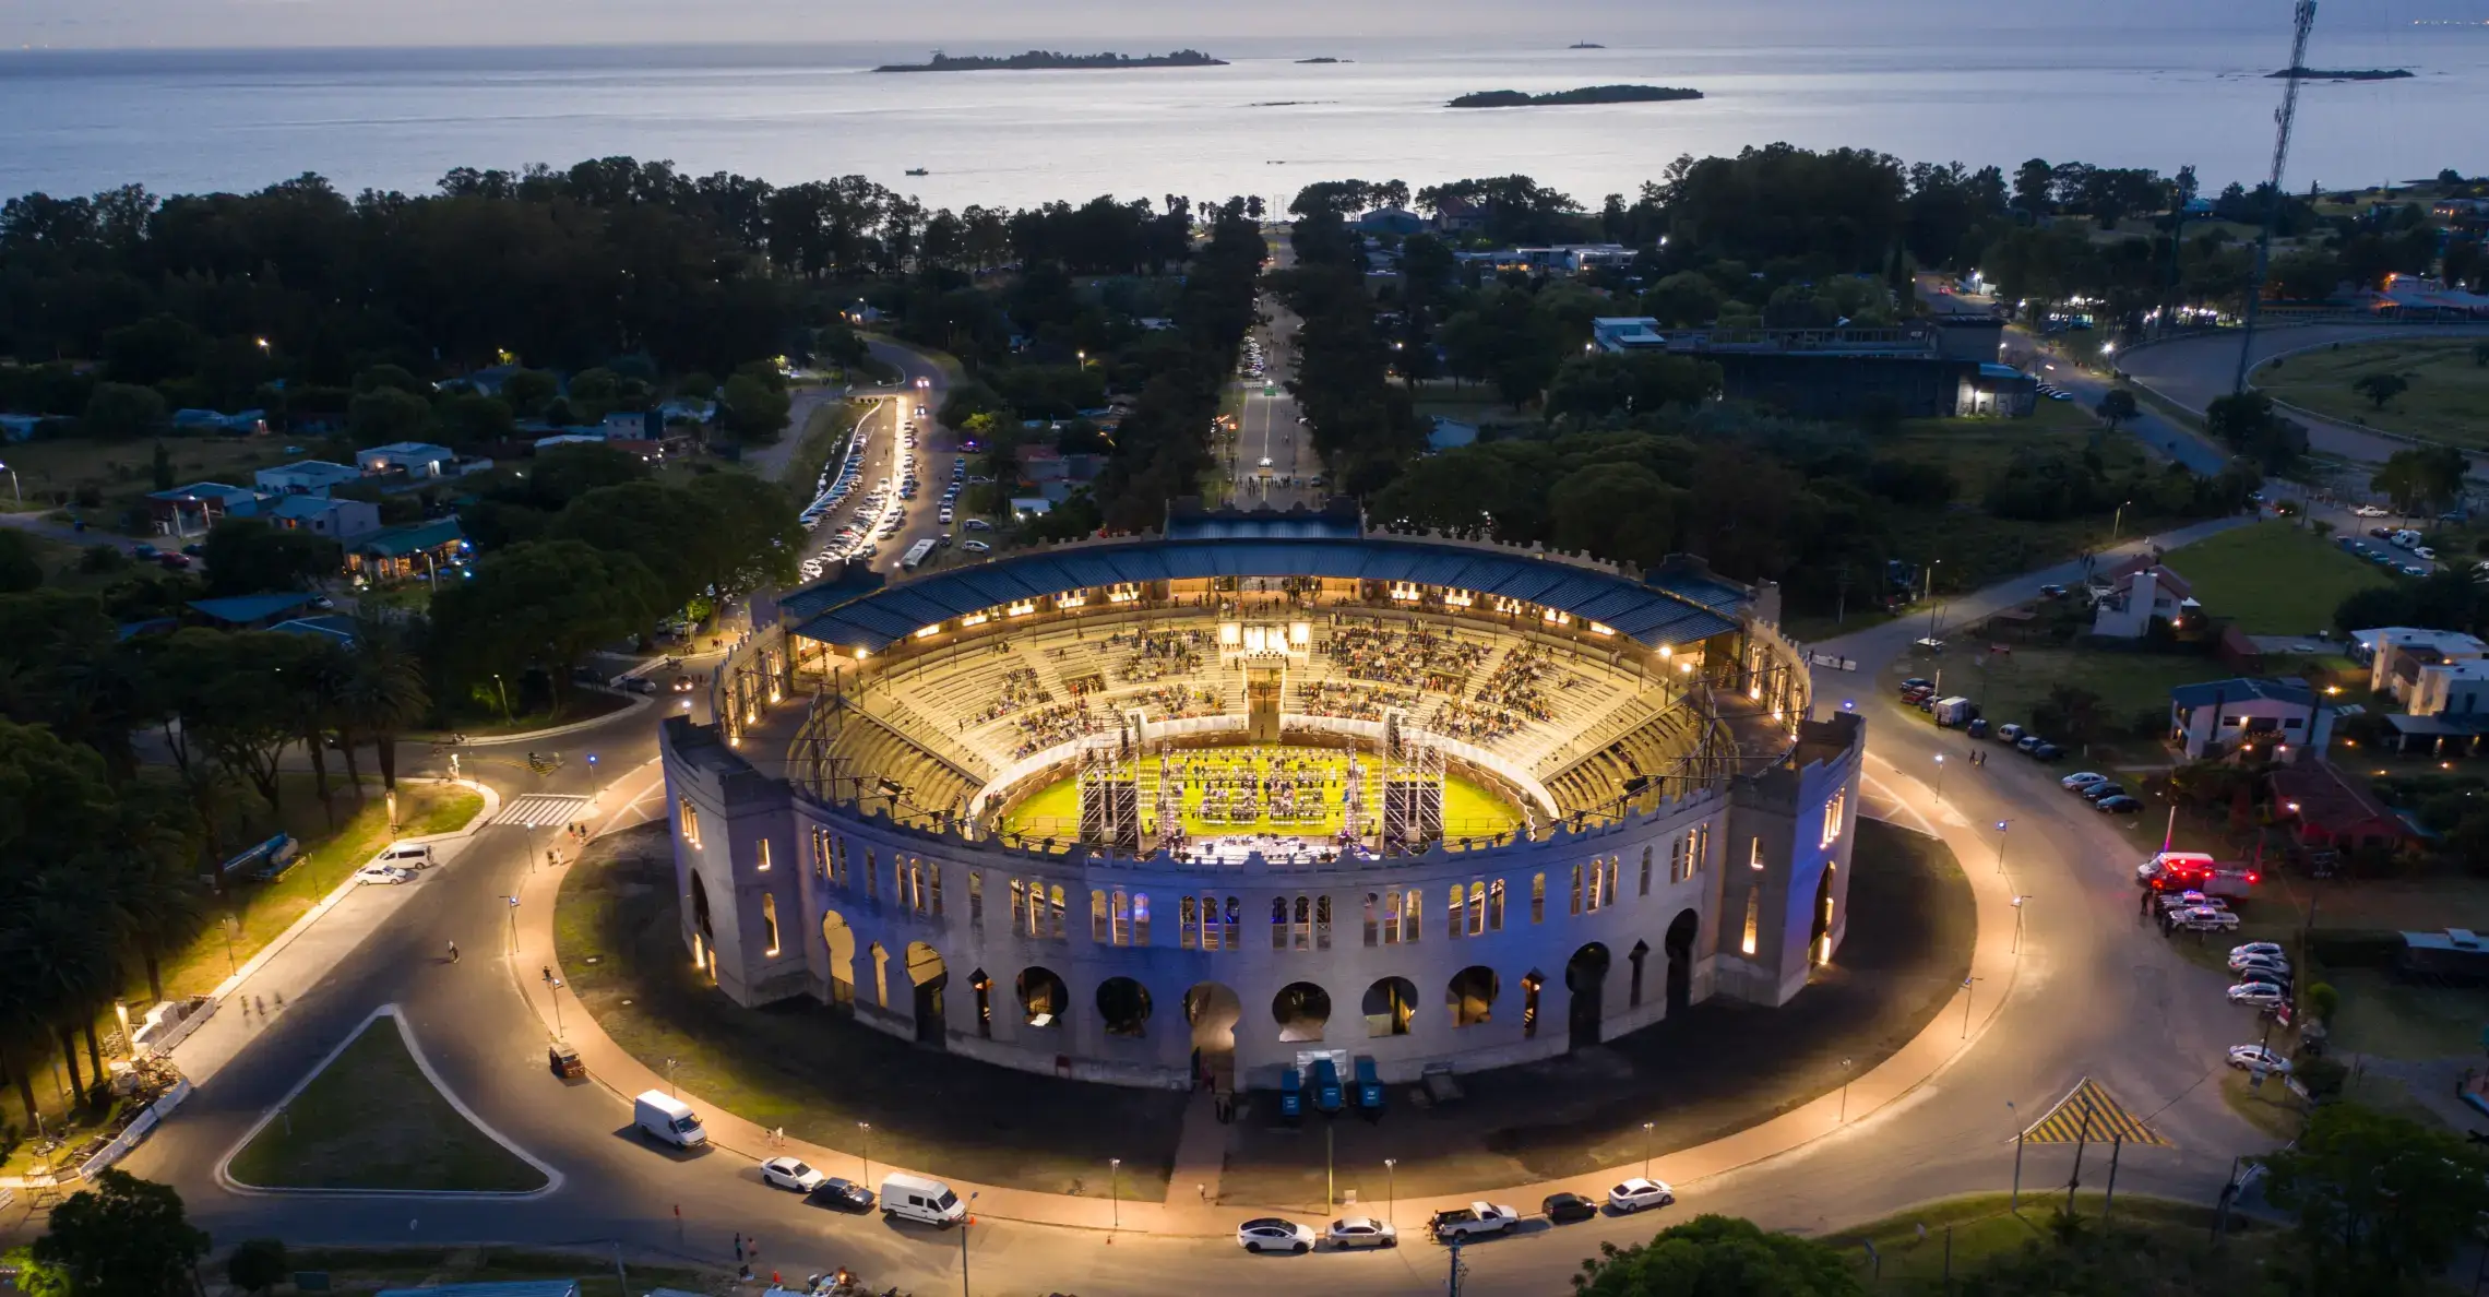
{"type": "Polygon", "coordinates": [[[1581,1262],[1583,1297],[1859,1297],[1867,1292],[1832,1247],[1765,1232],[1752,1220],[1697,1215],[1633,1247],[1600,1245],[1581,1262]]]}

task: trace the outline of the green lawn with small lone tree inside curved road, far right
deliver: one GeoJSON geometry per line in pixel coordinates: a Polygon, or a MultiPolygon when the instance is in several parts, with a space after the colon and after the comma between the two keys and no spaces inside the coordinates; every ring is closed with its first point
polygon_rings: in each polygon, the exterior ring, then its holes
{"type": "Polygon", "coordinates": [[[2489,366],[2472,358],[2482,339],[2409,339],[2335,346],[2282,356],[2255,371],[2275,401],[2345,423],[2424,436],[2454,446],[2489,446],[2489,366]],[[2399,373],[2409,391],[2377,408],[2352,391],[2367,373],[2399,373]]]}

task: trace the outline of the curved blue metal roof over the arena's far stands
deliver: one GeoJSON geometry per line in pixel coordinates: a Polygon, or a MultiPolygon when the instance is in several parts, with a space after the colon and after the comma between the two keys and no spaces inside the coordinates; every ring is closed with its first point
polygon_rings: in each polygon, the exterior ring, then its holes
{"type": "Polygon", "coordinates": [[[1521,550],[1481,550],[1394,535],[1222,535],[1152,538],[1003,555],[889,588],[819,583],[782,600],[796,635],[841,647],[881,650],[901,637],[968,612],[1118,583],[1200,578],[1357,578],[1476,590],[1558,607],[1615,627],[1643,645],[1685,645],[1737,627],[1752,595],[1710,575],[1700,563],[1673,560],[1630,580],[1521,550]]]}

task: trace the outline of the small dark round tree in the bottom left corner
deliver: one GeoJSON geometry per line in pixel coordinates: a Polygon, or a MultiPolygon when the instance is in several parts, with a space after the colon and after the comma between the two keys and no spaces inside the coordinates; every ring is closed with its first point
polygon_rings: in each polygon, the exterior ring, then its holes
{"type": "Polygon", "coordinates": [[[207,1230],[189,1222],[172,1185],[119,1168],[52,1207],[35,1262],[62,1277],[62,1297],[187,1297],[197,1292],[207,1230]]]}

